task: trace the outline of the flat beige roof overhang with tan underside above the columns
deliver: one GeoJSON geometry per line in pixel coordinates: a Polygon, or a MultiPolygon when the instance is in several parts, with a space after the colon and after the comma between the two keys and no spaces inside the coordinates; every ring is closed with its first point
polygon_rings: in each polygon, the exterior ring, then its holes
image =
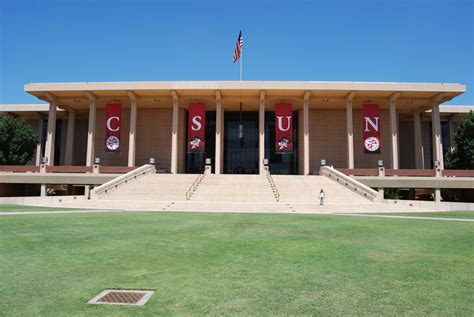
{"type": "MultiPolygon", "coordinates": [[[[127,106],[128,92],[132,91],[140,99],[139,107],[169,106],[173,91],[182,104],[199,100],[214,105],[215,92],[219,91],[226,107],[232,107],[239,101],[257,105],[260,92],[265,91],[265,98],[269,102],[294,101],[300,107],[305,94],[309,92],[313,106],[327,108],[345,107],[346,97],[352,92],[355,92],[354,108],[358,108],[362,102],[384,103],[393,94],[400,93],[397,108],[410,110],[426,107],[439,94],[442,94],[440,102],[451,100],[464,93],[466,86],[456,83],[397,82],[160,81],[31,83],[25,85],[25,91],[42,100],[48,100],[48,95],[53,96],[58,106],[73,109],[87,109],[86,92],[94,94],[103,102],[120,101],[127,106]]],[[[98,106],[101,106],[100,103],[98,106]]]]}

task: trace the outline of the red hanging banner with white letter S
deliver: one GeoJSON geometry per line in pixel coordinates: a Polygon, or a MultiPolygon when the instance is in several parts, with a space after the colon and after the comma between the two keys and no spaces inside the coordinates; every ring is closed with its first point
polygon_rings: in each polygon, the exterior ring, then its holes
{"type": "Polygon", "coordinates": [[[188,113],[188,152],[205,152],[206,137],[206,105],[199,103],[189,104],[188,113]]]}

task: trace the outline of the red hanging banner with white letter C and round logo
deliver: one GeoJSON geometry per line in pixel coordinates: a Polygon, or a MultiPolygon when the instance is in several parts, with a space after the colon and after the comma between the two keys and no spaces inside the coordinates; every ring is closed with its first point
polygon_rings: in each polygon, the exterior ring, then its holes
{"type": "Polygon", "coordinates": [[[122,121],[122,105],[108,103],[105,105],[105,150],[120,151],[120,123],[122,121]]]}

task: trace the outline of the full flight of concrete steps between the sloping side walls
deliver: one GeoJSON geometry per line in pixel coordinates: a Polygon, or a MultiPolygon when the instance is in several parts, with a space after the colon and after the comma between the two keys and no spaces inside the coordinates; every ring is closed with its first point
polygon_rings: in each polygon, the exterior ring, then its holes
{"type": "MultiPolygon", "coordinates": [[[[185,202],[197,174],[148,174],[121,184],[95,200],[185,202]]],[[[370,204],[368,199],[325,176],[272,175],[280,203],[370,204]]],[[[270,182],[261,175],[205,175],[189,201],[203,203],[277,203],[270,182]]]]}

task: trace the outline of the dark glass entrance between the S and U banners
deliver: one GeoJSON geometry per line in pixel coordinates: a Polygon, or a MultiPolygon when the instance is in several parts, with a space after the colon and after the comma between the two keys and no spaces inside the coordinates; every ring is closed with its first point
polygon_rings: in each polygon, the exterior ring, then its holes
{"type": "Polygon", "coordinates": [[[239,111],[224,115],[224,173],[258,174],[258,112],[242,112],[242,136],[239,136],[239,111]]]}

